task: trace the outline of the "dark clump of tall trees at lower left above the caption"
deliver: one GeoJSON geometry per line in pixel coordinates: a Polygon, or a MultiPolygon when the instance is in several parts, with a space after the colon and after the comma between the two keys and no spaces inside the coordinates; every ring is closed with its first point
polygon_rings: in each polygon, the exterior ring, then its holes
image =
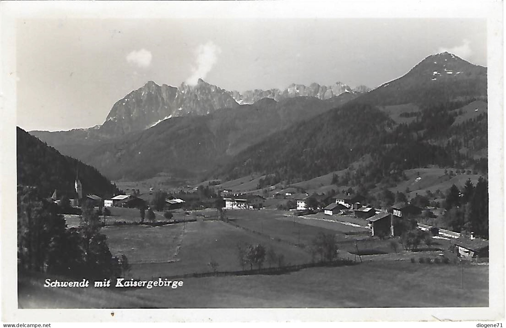
{"type": "Polygon", "coordinates": [[[128,271],[126,256],[113,257],[93,206],[82,206],[78,228],[67,228],[58,206],[36,188],[18,186],[18,266],[22,271],[49,272],[90,279],[128,271]]]}

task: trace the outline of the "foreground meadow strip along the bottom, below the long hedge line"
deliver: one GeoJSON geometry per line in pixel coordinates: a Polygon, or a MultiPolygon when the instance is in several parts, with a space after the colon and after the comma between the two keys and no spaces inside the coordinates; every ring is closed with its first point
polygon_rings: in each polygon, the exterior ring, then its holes
{"type": "Polygon", "coordinates": [[[178,289],[43,288],[20,280],[21,308],[486,307],[488,265],[378,260],[285,275],[184,279],[178,289]],[[463,271],[463,288],[461,284],[463,271]]]}

